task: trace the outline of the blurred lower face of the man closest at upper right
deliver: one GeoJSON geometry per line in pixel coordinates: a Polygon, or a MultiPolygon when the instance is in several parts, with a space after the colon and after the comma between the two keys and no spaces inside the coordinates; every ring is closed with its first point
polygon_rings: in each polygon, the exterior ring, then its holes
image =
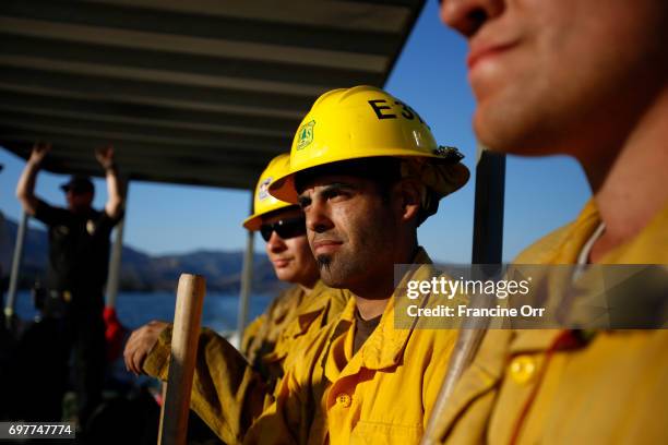
{"type": "Polygon", "coordinates": [[[665,0],[442,0],[441,17],[468,39],[474,127],[493,149],[619,145],[666,87],[665,0]]]}

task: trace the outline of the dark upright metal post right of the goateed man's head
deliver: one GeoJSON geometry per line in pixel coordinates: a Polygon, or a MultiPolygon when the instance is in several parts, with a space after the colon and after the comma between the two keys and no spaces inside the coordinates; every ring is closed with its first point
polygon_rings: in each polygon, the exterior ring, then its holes
{"type": "Polygon", "coordinates": [[[500,264],[503,254],[505,155],[478,146],[473,264],[500,264]]]}

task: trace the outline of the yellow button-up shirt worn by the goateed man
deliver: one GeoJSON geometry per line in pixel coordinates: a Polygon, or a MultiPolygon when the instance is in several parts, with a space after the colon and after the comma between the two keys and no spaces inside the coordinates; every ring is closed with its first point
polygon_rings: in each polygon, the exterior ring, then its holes
{"type": "MultiPolygon", "coordinates": [[[[414,263],[425,265],[405,280],[433,276],[422,249],[414,263]]],[[[355,354],[356,305],[349,300],[341,318],[303,348],[277,387],[275,404],[251,426],[244,443],[418,443],[456,332],[395,328],[395,297],[355,354]]]]}

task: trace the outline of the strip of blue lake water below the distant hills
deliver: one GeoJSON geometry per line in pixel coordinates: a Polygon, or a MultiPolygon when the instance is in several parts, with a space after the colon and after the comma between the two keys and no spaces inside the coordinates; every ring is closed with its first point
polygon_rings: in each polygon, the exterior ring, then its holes
{"type": "MultiPolygon", "coordinates": [[[[264,312],[275,294],[253,294],[249,304],[249,322],[264,312]]],[[[176,293],[172,292],[121,292],[116,302],[116,311],[121,324],[130,329],[152,320],[174,320],[176,293]]],[[[238,293],[207,292],[204,298],[202,325],[217,332],[237,328],[239,310],[238,293]]],[[[37,312],[33,306],[29,291],[16,296],[16,314],[24,321],[33,320],[37,312]]]]}

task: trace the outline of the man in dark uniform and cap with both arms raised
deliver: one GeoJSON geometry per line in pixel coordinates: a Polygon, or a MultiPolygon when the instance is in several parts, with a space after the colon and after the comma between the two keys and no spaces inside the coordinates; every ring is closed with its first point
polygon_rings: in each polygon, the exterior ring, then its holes
{"type": "Polygon", "coordinates": [[[102,400],[105,373],[104,286],[109,262],[109,236],[123,215],[123,195],[114,161],[114,147],[95,156],[107,179],[107,203],[93,208],[95,189],[87,177],[73,176],[61,185],[67,207],[55,207],[35,195],[37,173],[50,144],[37,143],[19,179],[16,196],[23,209],[48,227],[50,299],[64,304],[63,361],[74,347],[79,422],[85,426],[102,400]]]}

